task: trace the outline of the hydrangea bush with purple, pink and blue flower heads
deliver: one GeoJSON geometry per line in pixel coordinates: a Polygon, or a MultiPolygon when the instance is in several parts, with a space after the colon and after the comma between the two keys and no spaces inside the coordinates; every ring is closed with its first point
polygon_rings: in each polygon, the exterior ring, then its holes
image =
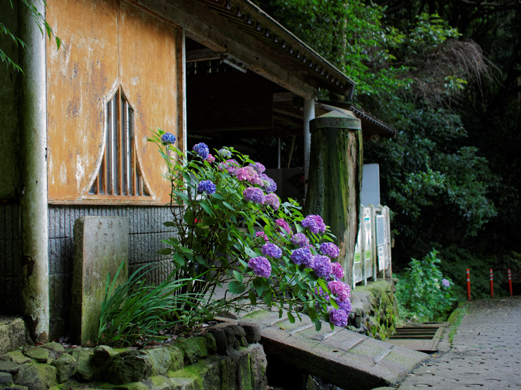
{"type": "Polygon", "coordinates": [[[309,316],[345,326],[351,310],[344,271],[329,227],[318,215],[304,218],[293,200],[281,203],[263,164],[223,148],[212,155],[204,143],[184,154],[175,136],[157,129],[157,144],[171,183],[172,237],[163,240],[177,278],[194,278],[179,293],[212,296],[229,309],[266,305],[291,322],[309,316]],[[209,270],[209,271],[208,271],[209,270]],[[206,273],[205,273],[206,272],[206,273]],[[201,275],[203,275],[201,277],[201,275]]]}

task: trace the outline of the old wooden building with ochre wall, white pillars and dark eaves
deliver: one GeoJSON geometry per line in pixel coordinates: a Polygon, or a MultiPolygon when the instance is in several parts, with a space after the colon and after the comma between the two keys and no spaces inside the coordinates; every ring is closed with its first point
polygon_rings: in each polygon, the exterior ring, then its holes
{"type": "MultiPolygon", "coordinates": [[[[0,313],[25,315],[42,340],[67,332],[78,217],[128,217],[131,268],[167,272],[156,251],[169,183],[151,128],[175,134],[183,150],[201,139],[299,136],[306,172],[309,120],[334,109],[319,90],[349,100],[355,86],[248,0],[47,5],[58,50],[18,3],[0,5],[28,44],[5,50],[24,74],[0,69],[0,313]]],[[[365,135],[390,134],[358,115],[365,135]]]]}

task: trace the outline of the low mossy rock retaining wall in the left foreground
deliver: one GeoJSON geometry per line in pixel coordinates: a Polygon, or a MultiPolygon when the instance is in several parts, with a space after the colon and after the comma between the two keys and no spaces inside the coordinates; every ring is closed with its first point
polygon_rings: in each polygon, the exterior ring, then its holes
{"type": "Polygon", "coordinates": [[[222,323],[158,348],[48,343],[0,356],[0,389],[258,390],[267,387],[256,324],[222,323]]]}

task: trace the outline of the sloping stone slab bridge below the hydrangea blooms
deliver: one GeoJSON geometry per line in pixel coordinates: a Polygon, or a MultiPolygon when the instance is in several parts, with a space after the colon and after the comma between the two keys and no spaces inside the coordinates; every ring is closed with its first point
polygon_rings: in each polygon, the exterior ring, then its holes
{"type": "Polygon", "coordinates": [[[241,321],[261,327],[261,344],[270,356],[297,370],[350,390],[392,386],[429,355],[322,323],[317,332],[307,316],[291,323],[266,310],[245,315],[241,321]]]}

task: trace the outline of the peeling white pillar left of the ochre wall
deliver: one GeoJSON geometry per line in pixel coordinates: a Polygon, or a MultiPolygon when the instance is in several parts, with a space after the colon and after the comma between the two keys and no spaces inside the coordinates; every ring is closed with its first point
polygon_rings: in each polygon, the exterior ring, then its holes
{"type": "MultiPolygon", "coordinates": [[[[41,1],[32,2],[45,15],[41,1]]],[[[20,155],[22,195],[23,314],[35,341],[49,338],[49,255],[47,220],[47,95],[45,84],[45,43],[31,9],[19,3],[19,31],[27,48],[22,53],[22,125],[20,155]]],[[[40,26],[45,32],[45,28],[40,26]]]]}

